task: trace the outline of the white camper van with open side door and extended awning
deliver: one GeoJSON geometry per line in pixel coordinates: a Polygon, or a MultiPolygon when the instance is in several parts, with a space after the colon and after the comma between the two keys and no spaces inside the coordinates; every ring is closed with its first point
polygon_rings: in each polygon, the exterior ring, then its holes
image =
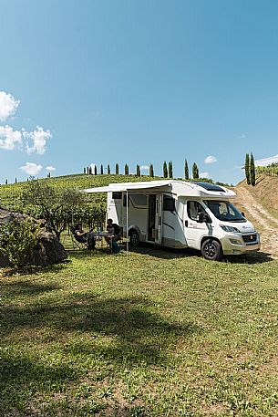
{"type": "Polygon", "coordinates": [[[206,259],[260,250],[260,235],[230,202],[235,193],[208,182],[119,182],[85,190],[108,193],[108,218],[140,242],[194,248],[206,259]]]}

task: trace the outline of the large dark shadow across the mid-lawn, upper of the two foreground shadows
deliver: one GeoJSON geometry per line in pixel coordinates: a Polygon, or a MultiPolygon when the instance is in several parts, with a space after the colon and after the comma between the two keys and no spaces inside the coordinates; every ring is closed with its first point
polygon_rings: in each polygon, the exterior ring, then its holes
{"type": "MultiPolygon", "coordinates": [[[[69,334],[80,333],[90,341],[96,337],[112,338],[112,342],[100,350],[113,360],[144,360],[157,364],[165,360],[169,343],[201,329],[192,323],[167,321],[149,311],[150,308],[148,299],[143,297],[101,299],[86,294],[72,296],[66,302],[63,299],[59,305],[56,301],[31,307],[3,308],[3,328],[8,333],[15,329],[20,333],[32,328],[42,331],[46,327],[55,337],[59,335],[66,339],[69,334]]],[[[87,345],[83,340],[74,349],[88,354],[97,349],[99,353],[97,345],[95,342],[87,345]]]]}

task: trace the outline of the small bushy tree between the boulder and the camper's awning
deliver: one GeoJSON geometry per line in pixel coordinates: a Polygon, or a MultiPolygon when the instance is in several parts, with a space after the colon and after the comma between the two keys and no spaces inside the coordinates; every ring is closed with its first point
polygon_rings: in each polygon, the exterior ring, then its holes
{"type": "Polygon", "coordinates": [[[84,201],[84,194],[74,188],[57,189],[38,180],[29,182],[22,194],[28,213],[35,211],[36,216],[42,216],[48,230],[54,232],[58,240],[70,221],[74,207],[81,207],[84,201]]]}

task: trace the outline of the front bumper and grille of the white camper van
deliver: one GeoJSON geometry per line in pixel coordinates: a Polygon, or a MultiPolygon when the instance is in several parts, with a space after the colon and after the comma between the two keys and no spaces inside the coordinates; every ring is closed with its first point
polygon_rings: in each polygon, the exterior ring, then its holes
{"type": "Polygon", "coordinates": [[[225,235],[221,239],[221,245],[224,255],[241,255],[250,252],[257,252],[261,248],[260,235],[256,232],[249,235],[225,235]],[[249,238],[251,235],[252,239],[249,238]],[[247,240],[247,242],[244,242],[243,239],[247,240]]]}

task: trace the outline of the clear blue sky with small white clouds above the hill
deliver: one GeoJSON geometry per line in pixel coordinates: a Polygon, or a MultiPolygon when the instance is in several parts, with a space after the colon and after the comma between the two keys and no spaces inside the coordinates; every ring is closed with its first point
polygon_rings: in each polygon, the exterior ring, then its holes
{"type": "Polygon", "coordinates": [[[165,160],[181,177],[185,158],[236,183],[246,152],[278,154],[276,0],[0,0],[0,9],[1,183],[91,163],[112,172],[153,163],[161,174],[165,160]]]}

